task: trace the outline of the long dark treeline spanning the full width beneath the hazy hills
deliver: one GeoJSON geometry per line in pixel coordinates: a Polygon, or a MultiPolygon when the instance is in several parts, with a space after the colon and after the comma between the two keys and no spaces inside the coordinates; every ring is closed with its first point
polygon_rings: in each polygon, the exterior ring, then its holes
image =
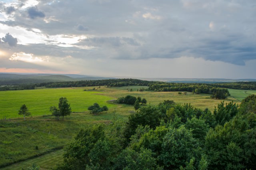
{"type": "MultiPolygon", "coordinates": [[[[148,86],[149,87],[148,90],[151,90],[151,91],[190,91],[197,94],[206,93],[206,94],[211,94],[213,98],[216,98],[216,93],[220,93],[220,88],[256,90],[256,82],[206,84],[206,83],[164,83],[160,81],[146,81],[146,80],[139,80],[139,79],[105,79],[105,80],[62,81],[62,82],[46,82],[46,83],[36,83],[36,84],[5,85],[5,86],[0,86],[0,91],[35,89],[36,87],[47,87],[47,88],[86,87],[86,86],[122,87],[122,86],[131,86],[131,85],[148,86]]],[[[144,89],[142,88],[140,89],[140,91],[144,91],[144,89]]],[[[223,92],[223,95],[228,96],[228,91],[222,91],[222,92],[223,92]]],[[[220,99],[224,99],[224,98],[220,97],[220,99]]]]}

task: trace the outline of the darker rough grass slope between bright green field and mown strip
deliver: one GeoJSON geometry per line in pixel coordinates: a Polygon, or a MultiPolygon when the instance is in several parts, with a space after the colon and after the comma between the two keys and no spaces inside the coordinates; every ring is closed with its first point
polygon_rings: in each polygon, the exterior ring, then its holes
{"type": "MultiPolygon", "coordinates": [[[[49,115],[29,117],[26,121],[0,121],[0,166],[60,148],[70,143],[80,128],[96,123],[109,124],[114,115],[115,119],[127,120],[129,112],[133,110],[132,106],[123,106],[96,116],[88,111],[72,113],[64,121],[54,121],[49,115]]],[[[60,162],[56,160],[55,163],[60,162]]]]}

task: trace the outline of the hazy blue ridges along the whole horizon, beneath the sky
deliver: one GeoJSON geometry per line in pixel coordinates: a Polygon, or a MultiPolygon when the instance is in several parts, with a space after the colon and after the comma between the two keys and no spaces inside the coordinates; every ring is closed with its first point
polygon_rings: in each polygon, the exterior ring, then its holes
{"type": "MultiPolygon", "coordinates": [[[[120,77],[119,77],[120,78],[120,77]]],[[[124,77],[122,77],[124,78],[124,77]]],[[[256,81],[256,79],[199,79],[199,78],[140,78],[147,81],[163,81],[167,83],[233,83],[256,81]]],[[[97,77],[78,74],[42,74],[42,73],[0,73],[0,85],[16,85],[25,83],[47,83],[60,81],[104,80],[114,77],[97,77]]]]}

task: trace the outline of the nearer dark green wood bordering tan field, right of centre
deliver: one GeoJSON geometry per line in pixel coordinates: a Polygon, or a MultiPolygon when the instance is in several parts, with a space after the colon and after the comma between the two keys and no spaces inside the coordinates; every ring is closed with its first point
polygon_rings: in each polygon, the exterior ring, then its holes
{"type": "Polygon", "coordinates": [[[204,83],[162,83],[156,82],[149,85],[152,91],[190,91],[196,94],[210,94],[212,98],[226,99],[230,96],[228,89],[223,89],[213,84],[204,83]]]}

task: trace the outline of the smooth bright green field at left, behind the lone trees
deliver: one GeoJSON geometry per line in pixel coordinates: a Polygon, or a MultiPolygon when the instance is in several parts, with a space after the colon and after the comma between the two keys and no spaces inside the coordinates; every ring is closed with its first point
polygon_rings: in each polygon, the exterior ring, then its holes
{"type": "Polygon", "coordinates": [[[106,101],[112,97],[98,95],[94,91],[83,91],[84,88],[36,89],[19,91],[0,91],[0,119],[18,117],[18,110],[25,104],[32,116],[50,115],[51,106],[58,107],[60,97],[66,97],[72,112],[84,112],[93,103],[109,108],[115,107],[106,101]]]}

